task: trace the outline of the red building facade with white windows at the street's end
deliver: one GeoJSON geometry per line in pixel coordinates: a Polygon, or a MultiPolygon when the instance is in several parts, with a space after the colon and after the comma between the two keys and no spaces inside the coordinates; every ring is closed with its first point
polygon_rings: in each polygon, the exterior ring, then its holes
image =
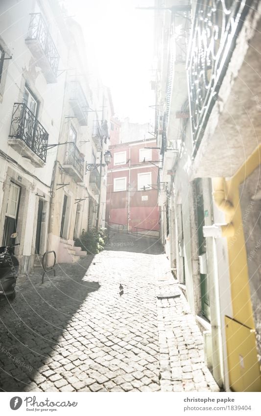
{"type": "Polygon", "coordinates": [[[159,151],[149,147],[156,147],[156,141],[110,147],[112,161],[107,171],[106,222],[112,226],[121,224],[130,232],[159,230],[158,166],[155,166],[159,151]]]}

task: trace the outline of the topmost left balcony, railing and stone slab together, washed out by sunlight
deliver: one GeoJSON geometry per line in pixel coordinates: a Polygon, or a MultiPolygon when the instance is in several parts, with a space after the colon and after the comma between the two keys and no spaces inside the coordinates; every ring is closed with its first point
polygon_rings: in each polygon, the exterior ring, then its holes
{"type": "Polygon", "coordinates": [[[25,43],[36,58],[47,83],[56,82],[59,54],[41,13],[32,13],[25,43]]]}

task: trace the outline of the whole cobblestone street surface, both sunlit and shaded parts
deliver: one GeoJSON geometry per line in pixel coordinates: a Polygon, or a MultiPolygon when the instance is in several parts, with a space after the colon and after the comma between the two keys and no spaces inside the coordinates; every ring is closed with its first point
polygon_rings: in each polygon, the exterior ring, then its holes
{"type": "Polygon", "coordinates": [[[155,240],[115,235],[43,285],[26,277],[0,304],[1,390],[218,391],[185,298],[157,298],[179,291],[167,268],[155,240]]]}

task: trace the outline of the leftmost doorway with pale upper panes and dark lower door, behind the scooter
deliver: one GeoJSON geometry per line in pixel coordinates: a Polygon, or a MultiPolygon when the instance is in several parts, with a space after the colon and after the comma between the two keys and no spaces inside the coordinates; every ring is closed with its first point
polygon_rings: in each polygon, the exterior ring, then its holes
{"type": "Polygon", "coordinates": [[[15,239],[11,238],[11,234],[16,233],[17,231],[20,194],[21,187],[11,182],[6,205],[2,245],[11,245],[15,242],[15,239]]]}

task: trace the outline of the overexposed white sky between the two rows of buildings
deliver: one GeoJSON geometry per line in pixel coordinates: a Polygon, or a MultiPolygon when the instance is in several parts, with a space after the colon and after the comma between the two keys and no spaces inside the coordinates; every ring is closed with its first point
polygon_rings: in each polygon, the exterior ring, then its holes
{"type": "Polygon", "coordinates": [[[95,52],[103,83],[111,89],[115,113],[131,122],[152,122],[154,0],[66,0],[70,15],[95,52]]]}

